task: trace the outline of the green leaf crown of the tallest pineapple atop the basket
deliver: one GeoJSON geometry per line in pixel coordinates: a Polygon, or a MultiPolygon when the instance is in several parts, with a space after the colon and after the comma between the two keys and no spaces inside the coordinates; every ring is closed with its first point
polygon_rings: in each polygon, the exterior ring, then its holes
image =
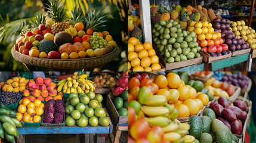
{"type": "Polygon", "coordinates": [[[66,9],[64,8],[62,1],[53,0],[49,2],[50,5],[47,5],[48,8],[46,8],[48,10],[48,17],[50,17],[54,22],[66,21],[66,9]]]}

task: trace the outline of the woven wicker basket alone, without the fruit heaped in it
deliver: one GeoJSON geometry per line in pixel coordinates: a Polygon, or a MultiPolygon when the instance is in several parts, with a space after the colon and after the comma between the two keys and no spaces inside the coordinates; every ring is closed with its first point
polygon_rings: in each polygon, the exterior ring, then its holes
{"type": "Polygon", "coordinates": [[[35,67],[42,67],[46,69],[87,69],[90,67],[97,67],[103,64],[109,63],[110,61],[114,60],[118,57],[119,48],[116,47],[112,52],[101,55],[99,57],[92,57],[92,58],[78,58],[78,59],[48,59],[48,58],[37,58],[37,57],[30,57],[29,55],[21,54],[20,52],[15,50],[15,47],[11,49],[11,54],[13,55],[14,59],[19,61],[20,63],[35,66],[35,67]]]}

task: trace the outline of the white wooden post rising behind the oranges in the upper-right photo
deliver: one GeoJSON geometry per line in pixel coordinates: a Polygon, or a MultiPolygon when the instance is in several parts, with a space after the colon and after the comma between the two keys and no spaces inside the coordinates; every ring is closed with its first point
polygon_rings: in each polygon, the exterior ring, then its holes
{"type": "Polygon", "coordinates": [[[138,3],[140,5],[140,20],[144,42],[152,43],[149,1],[139,0],[138,3]]]}

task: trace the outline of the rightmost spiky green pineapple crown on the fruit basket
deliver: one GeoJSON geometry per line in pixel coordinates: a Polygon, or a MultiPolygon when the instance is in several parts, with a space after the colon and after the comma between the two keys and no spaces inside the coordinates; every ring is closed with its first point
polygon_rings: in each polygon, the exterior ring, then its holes
{"type": "Polygon", "coordinates": [[[84,21],[85,30],[92,29],[92,31],[95,31],[99,30],[101,27],[106,27],[106,25],[103,25],[106,22],[106,20],[102,20],[104,17],[106,17],[106,14],[104,14],[103,11],[98,13],[95,13],[95,10],[90,11],[84,21]]]}

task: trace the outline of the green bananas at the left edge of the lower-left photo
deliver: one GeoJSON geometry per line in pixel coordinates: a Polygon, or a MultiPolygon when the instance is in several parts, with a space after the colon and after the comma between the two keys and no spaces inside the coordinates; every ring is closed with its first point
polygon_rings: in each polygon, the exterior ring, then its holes
{"type": "Polygon", "coordinates": [[[15,143],[15,137],[20,136],[16,127],[21,127],[17,114],[4,104],[0,104],[0,138],[15,143]]]}

